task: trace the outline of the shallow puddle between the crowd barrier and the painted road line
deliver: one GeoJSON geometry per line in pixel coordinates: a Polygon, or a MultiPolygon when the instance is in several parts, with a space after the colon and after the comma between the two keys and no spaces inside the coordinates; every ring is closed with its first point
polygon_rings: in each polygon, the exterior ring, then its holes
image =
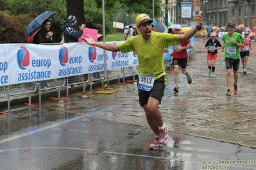
{"type": "Polygon", "coordinates": [[[58,111],[42,107],[13,106],[11,111],[0,119],[0,137],[17,135],[40,127],[51,122],[63,121],[78,116],[71,112],[58,111]]]}

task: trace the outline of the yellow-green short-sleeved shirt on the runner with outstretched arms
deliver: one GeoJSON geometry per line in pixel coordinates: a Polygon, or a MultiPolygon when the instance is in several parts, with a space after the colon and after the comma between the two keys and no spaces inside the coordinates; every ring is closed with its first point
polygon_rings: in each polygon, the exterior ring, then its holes
{"type": "Polygon", "coordinates": [[[166,75],[164,49],[178,45],[178,35],[151,31],[151,37],[144,40],[142,35],[132,36],[118,45],[121,52],[135,51],[139,60],[139,74],[155,75],[155,80],[166,75]]]}

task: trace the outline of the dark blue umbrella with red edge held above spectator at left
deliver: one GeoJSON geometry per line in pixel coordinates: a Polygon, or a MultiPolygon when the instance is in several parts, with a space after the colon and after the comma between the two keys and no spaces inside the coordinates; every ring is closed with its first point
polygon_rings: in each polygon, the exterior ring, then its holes
{"type": "Polygon", "coordinates": [[[35,36],[37,31],[39,31],[42,27],[42,23],[45,20],[51,20],[53,18],[53,15],[55,15],[56,12],[44,12],[41,13],[37,18],[33,19],[32,22],[28,25],[25,31],[25,38],[27,42],[30,42],[30,40],[35,36]]]}

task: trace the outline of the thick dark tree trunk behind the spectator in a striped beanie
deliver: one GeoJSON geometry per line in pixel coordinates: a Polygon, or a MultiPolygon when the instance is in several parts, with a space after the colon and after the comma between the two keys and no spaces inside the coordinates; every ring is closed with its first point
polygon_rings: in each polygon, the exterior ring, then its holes
{"type": "Polygon", "coordinates": [[[81,24],[85,24],[85,17],[83,13],[83,0],[66,0],[67,2],[67,18],[69,15],[74,15],[78,21],[76,29],[79,29],[81,24]]]}

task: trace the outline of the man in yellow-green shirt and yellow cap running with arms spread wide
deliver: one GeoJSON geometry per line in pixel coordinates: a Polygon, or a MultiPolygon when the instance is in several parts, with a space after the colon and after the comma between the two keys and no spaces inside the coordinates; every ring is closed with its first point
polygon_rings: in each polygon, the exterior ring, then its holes
{"type": "Polygon", "coordinates": [[[135,51],[139,60],[139,104],[143,107],[149,127],[155,134],[153,143],[149,145],[151,149],[157,149],[162,144],[166,144],[169,135],[168,128],[164,123],[162,114],[158,109],[164,89],[166,88],[166,72],[164,68],[164,49],[171,45],[180,44],[189,40],[203,24],[203,12],[197,15],[197,26],[182,35],[170,35],[168,33],[157,33],[152,31],[153,20],[144,13],[139,14],[135,19],[135,24],[139,35],[132,36],[126,42],[119,45],[111,43],[96,42],[92,37],[83,38],[90,45],[96,45],[105,50],[130,52],[135,51]]]}

